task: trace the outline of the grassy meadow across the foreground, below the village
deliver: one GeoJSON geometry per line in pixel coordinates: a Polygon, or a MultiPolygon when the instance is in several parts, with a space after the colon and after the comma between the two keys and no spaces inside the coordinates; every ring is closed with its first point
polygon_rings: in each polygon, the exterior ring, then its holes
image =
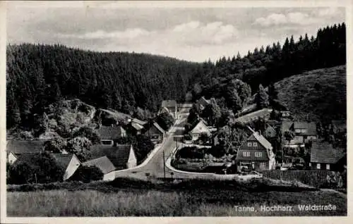
{"type": "MultiPolygon", "coordinates": [[[[217,181],[181,184],[102,183],[76,189],[8,192],[8,216],[346,216],[345,194],[292,187],[252,189],[217,181]],[[120,187],[118,187],[118,185],[120,187]],[[294,190],[297,189],[297,190],[294,190]],[[334,205],[336,211],[299,211],[298,205],[334,205]],[[261,206],[294,206],[293,211],[261,211],[261,206]],[[237,211],[253,206],[256,211],[237,211]]],[[[233,182],[234,183],[234,182],[233,182]]],[[[255,188],[253,186],[256,186],[255,188]]]]}

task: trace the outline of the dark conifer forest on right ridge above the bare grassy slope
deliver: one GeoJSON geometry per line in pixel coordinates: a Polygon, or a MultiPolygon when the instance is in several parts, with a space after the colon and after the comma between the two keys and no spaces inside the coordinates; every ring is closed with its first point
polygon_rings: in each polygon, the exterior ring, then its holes
{"type": "Polygon", "coordinates": [[[193,86],[194,98],[218,97],[230,80],[237,78],[251,86],[252,92],[264,87],[317,68],[329,68],[346,63],[345,23],[319,29],[316,37],[303,35],[297,41],[287,37],[268,46],[259,46],[244,57],[240,54],[233,58],[220,58],[213,66],[205,63],[212,72],[204,75],[201,82],[193,86]]]}

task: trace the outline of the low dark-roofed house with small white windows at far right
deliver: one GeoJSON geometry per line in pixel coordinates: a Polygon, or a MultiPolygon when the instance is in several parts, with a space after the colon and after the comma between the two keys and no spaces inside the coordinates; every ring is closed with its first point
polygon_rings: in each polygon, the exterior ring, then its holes
{"type": "Polygon", "coordinates": [[[313,142],[309,163],[311,170],[342,170],[345,165],[347,165],[345,149],[335,149],[328,142],[313,142]]]}

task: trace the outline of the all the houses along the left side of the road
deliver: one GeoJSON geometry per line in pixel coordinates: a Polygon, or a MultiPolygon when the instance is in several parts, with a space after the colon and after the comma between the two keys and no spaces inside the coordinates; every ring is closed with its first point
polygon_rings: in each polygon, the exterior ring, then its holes
{"type": "MultiPolygon", "coordinates": [[[[177,116],[176,101],[163,101],[162,108],[172,116],[177,116]]],[[[112,171],[137,166],[133,146],[131,144],[117,144],[116,139],[146,135],[153,143],[158,144],[163,142],[166,135],[166,131],[156,122],[148,123],[136,118],[126,118],[124,123],[118,123],[115,120],[112,120],[108,125],[101,123],[95,132],[100,136],[100,144],[94,144],[90,147],[91,157],[88,161],[81,162],[75,154],[68,154],[65,150],[60,154],[51,153],[57,164],[65,170],[63,180],[71,178],[79,166],[96,166],[104,173],[104,180],[112,179],[114,178],[111,176],[112,171]]],[[[44,151],[44,142],[43,140],[8,140],[6,146],[7,162],[10,164],[24,162],[33,165],[31,163],[34,161],[34,156],[44,151]]]]}

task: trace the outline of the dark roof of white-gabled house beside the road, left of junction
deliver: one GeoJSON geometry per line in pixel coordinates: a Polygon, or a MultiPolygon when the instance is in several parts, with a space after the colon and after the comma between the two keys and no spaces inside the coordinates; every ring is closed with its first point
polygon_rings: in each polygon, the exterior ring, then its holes
{"type": "Polygon", "coordinates": [[[107,156],[115,167],[126,166],[130,150],[131,144],[118,144],[116,147],[94,144],[90,147],[91,158],[107,156]]]}

